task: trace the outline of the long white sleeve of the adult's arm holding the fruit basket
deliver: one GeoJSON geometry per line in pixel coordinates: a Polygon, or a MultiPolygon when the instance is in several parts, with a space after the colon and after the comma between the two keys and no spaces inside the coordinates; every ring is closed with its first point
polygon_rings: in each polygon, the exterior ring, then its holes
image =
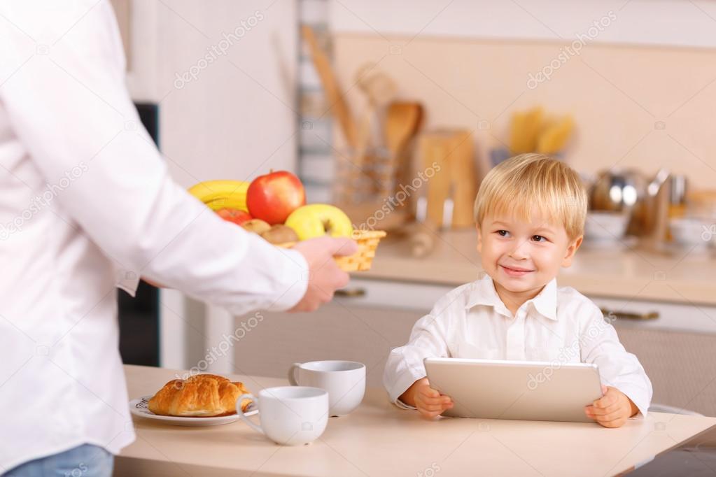
{"type": "Polygon", "coordinates": [[[303,256],[224,222],[170,178],[127,93],[109,2],[74,2],[87,10],[74,26],[55,21],[67,18],[53,3],[0,10],[0,107],[45,181],[72,172],[56,188],[62,212],[137,277],[235,315],[295,305],[303,256]]]}

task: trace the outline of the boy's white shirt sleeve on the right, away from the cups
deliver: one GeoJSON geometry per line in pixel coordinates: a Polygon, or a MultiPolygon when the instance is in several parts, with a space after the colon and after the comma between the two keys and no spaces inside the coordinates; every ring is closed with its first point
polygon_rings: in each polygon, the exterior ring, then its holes
{"type": "Polygon", "coordinates": [[[590,302],[584,310],[588,318],[580,336],[582,362],[598,365],[602,384],[619,389],[643,416],[647,415],[652,401],[652,382],[642,364],[637,356],[624,349],[616,330],[604,320],[594,303],[590,302]]]}

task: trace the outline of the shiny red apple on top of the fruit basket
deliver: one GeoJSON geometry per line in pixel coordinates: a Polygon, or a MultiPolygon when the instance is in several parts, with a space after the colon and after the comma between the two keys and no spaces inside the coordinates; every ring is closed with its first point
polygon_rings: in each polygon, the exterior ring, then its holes
{"type": "Polygon", "coordinates": [[[258,176],[246,191],[248,212],[271,225],[284,223],[291,212],[305,204],[304,185],[289,171],[258,176]]]}

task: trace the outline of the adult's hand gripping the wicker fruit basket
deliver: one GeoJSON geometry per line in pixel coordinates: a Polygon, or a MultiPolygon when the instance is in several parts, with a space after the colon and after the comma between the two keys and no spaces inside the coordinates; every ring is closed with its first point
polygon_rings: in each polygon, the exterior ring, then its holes
{"type": "Polygon", "coordinates": [[[303,240],[293,250],[301,252],[309,264],[309,286],[301,301],[289,311],[314,311],[333,298],[333,293],[348,284],[349,276],[333,260],[334,255],[353,255],[358,245],[349,238],[319,237],[303,240]]]}

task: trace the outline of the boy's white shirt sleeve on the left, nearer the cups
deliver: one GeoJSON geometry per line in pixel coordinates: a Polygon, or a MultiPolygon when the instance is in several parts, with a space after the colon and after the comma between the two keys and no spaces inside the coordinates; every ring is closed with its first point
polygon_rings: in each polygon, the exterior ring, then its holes
{"type": "MultiPolygon", "coordinates": [[[[438,304],[442,303],[442,300],[438,304]]],[[[425,378],[425,358],[446,358],[448,351],[449,313],[438,304],[412,327],[407,345],[391,350],[388,355],[383,384],[390,401],[399,407],[413,409],[398,398],[415,381],[425,378]]]]}

